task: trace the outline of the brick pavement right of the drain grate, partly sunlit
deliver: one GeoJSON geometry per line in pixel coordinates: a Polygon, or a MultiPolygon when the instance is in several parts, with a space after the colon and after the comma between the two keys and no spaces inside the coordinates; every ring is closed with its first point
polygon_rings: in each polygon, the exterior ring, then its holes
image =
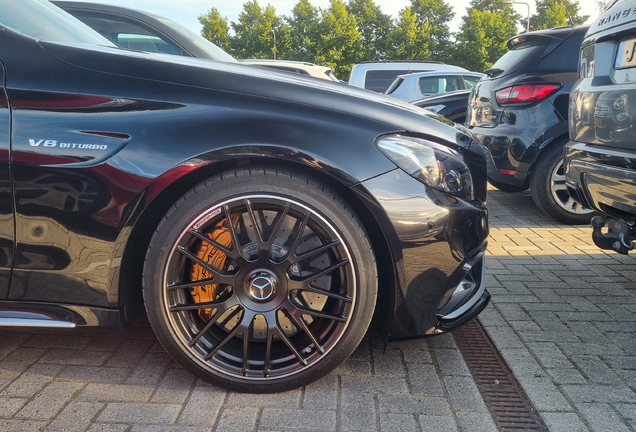
{"type": "Polygon", "coordinates": [[[636,253],[604,252],[527,193],[489,190],[480,321],[551,432],[636,428],[636,253]]]}

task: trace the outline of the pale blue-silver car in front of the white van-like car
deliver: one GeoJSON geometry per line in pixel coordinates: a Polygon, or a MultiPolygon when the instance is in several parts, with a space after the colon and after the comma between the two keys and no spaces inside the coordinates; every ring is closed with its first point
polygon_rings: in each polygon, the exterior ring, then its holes
{"type": "Polygon", "coordinates": [[[426,96],[471,89],[482,76],[483,74],[480,73],[461,71],[419,72],[398,75],[385,94],[406,102],[412,102],[426,96]]]}

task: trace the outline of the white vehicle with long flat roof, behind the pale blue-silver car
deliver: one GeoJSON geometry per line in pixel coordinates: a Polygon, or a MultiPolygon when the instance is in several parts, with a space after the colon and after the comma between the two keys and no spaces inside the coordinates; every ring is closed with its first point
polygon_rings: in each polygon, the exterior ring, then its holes
{"type": "Polygon", "coordinates": [[[384,93],[398,75],[427,71],[462,71],[459,66],[435,61],[375,61],[353,65],[349,85],[384,93]]]}

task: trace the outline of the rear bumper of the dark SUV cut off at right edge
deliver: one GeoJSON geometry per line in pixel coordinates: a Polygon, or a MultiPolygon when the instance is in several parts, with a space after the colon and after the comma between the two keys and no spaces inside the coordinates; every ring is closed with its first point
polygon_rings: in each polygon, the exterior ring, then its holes
{"type": "Polygon", "coordinates": [[[566,184],[585,204],[611,217],[636,219],[636,150],[571,142],[566,184]]]}

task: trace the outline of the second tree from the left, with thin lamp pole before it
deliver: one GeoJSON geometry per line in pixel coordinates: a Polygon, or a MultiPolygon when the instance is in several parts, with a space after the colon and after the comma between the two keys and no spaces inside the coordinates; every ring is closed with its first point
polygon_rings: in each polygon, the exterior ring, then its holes
{"type": "Polygon", "coordinates": [[[277,46],[289,43],[285,40],[289,31],[282,27],[282,20],[276,15],[274,6],[261,8],[257,0],[244,3],[238,23],[232,22],[232,53],[238,58],[272,58],[275,52],[272,30],[276,32],[277,46]]]}

